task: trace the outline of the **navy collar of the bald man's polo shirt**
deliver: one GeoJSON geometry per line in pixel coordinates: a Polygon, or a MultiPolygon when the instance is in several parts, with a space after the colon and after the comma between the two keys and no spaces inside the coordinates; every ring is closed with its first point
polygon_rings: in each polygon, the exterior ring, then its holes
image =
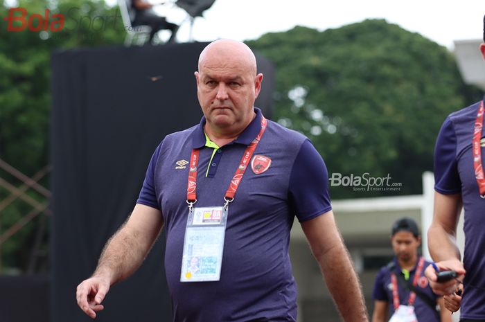
{"type": "MultiPolygon", "coordinates": [[[[239,143],[243,145],[249,145],[252,143],[254,138],[258,135],[259,131],[261,131],[261,117],[263,114],[261,113],[261,109],[258,107],[254,107],[254,112],[256,113],[256,117],[254,120],[247,125],[243,133],[239,134],[238,138],[234,140],[232,143],[239,143]]],[[[199,125],[195,127],[194,131],[192,132],[192,148],[193,149],[200,149],[206,145],[206,136],[204,134],[204,125],[206,124],[205,116],[202,116],[199,125]]]]}

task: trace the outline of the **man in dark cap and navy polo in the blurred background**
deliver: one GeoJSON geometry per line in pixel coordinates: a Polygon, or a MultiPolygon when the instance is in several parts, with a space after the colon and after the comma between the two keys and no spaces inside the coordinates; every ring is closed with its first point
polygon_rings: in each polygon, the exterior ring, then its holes
{"type": "Polygon", "coordinates": [[[398,305],[414,307],[420,322],[451,322],[443,298],[432,292],[424,276],[424,269],[430,262],[418,255],[421,234],[416,222],[407,217],[397,220],[391,229],[391,243],[394,259],[380,269],[372,291],[372,322],[389,321],[398,305]]]}

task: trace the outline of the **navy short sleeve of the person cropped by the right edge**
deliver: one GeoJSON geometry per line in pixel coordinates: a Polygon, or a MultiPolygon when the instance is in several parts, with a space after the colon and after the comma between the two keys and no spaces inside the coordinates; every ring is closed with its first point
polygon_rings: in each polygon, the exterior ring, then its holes
{"type": "Polygon", "coordinates": [[[434,190],[443,195],[461,192],[457,168],[457,135],[455,127],[446,118],[434,147],[434,190]]]}

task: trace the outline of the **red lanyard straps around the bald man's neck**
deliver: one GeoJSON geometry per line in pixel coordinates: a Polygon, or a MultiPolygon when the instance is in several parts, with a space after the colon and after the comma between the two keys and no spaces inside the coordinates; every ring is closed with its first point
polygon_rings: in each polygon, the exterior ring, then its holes
{"type": "MultiPolygon", "coordinates": [[[[236,191],[238,190],[238,186],[240,181],[243,179],[243,175],[246,172],[247,166],[249,165],[249,161],[253,156],[254,150],[258,146],[263,133],[265,132],[267,125],[267,120],[264,116],[261,116],[261,130],[259,131],[258,135],[251,144],[246,147],[246,150],[243,154],[243,158],[241,159],[239,166],[236,170],[236,173],[231,179],[231,183],[229,184],[229,188],[227,188],[226,195],[224,195],[225,204],[224,206],[227,207],[229,202],[232,202],[234,199],[234,195],[236,195],[236,191]]],[[[195,190],[197,188],[197,165],[199,164],[199,150],[192,149],[191,154],[191,168],[188,170],[188,182],[187,182],[187,204],[188,208],[192,210],[193,204],[197,202],[197,195],[195,190]]]]}

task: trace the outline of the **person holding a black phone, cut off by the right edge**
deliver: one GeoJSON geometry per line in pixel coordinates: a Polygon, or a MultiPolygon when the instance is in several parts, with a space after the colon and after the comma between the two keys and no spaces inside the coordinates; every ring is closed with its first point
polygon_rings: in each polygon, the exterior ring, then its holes
{"type": "MultiPolygon", "coordinates": [[[[485,17],[480,51],[485,59],[485,17]]],[[[459,277],[436,283],[436,269],[428,267],[425,273],[434,292],[445,294],[450,310],[458,310],[461,302],[462,322],[485,321],[484,137],[482,100],[446,118],[434,151],[434,217],[428,243],[436,268],[454,270],[459,277]],[[461,208],[465,211],[463,264],[456,244],[461,208]]]]}

